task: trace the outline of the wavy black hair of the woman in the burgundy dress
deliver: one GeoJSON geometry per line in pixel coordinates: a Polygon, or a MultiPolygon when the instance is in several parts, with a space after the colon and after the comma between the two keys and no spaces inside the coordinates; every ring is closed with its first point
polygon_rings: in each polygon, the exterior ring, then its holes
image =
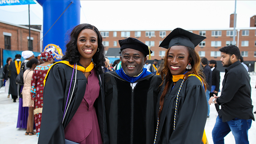
{"type": "Polygon", "coordinates": [[[71,65],[78,63],[80,60],[81,54],[77,50],[77,37],[79,33],[84,29],[91,29],[93,30],[97,36],[98,36],[98,48],[99,52],[96,52],[92,56],[92,60],[95,63],[96,67],[96,74],[102,74],[102,68],[101,66],[105,66],[105,58],[104,58],[104,52],[105,48],[102,44],[102,36],[100,35],[99,30],[87,23],[77,25],[70,33],[70,39],[68,43],[66,44],[67,51],[65,52],[65,55],[62,57],[61,60],[68,60],[71,65]]]}

